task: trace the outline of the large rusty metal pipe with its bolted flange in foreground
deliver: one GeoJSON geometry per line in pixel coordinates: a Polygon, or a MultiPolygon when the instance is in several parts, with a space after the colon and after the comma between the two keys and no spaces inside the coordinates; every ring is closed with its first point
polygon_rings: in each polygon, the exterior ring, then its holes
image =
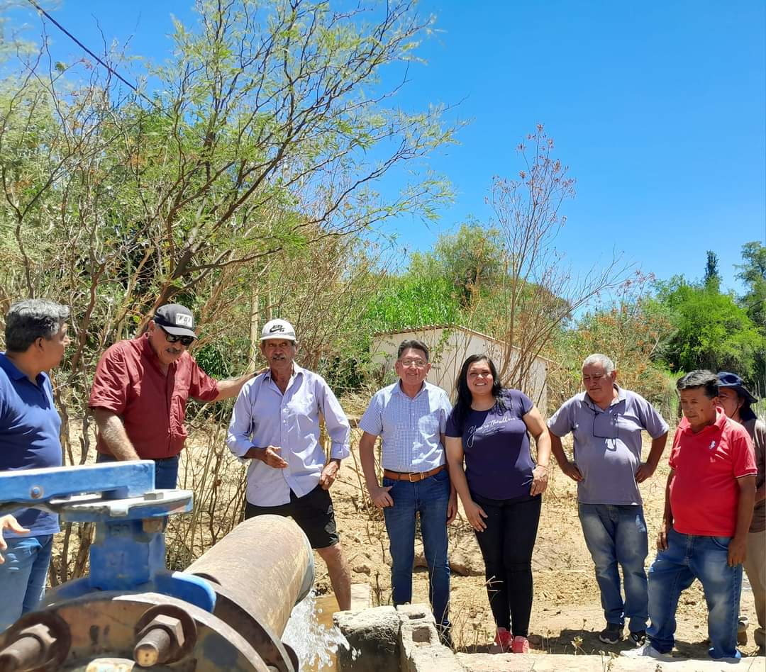
{"type": "Polygon", "coordinates": [[[162,594],[159,584],[146,586],[146,592],[93,590],[54,599],[0,633],[0,667],[125,672],[166,670],[170,664],[196,672],[298,670],[281,635],[293,605],[311,589],[314,573],[309,541],[292,520],[247,520],[186,573],[214,589],[213,613],[182,595],[162,594]]]}

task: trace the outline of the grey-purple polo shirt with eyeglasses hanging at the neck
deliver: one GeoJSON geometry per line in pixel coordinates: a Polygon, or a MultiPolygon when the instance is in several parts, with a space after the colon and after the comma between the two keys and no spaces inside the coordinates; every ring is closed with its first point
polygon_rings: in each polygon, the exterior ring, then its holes
{"type": "Polygon", "coordinates": [[[602,409],[587,393],[561,404],[548,420],[556,436],[572,432],[581,504],[641,504],[636,471],[641,464],[641,431],[659,439],[668,425],[653,406],[617,385],[617,399],[602,409]]]}

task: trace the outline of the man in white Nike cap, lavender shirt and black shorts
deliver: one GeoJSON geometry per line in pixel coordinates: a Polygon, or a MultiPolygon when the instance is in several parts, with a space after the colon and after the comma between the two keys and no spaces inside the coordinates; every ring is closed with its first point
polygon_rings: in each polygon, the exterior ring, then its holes
{"type": "Polygon", "coordinates": [[[349,455],[349,420],[325,380],[295,363],[295,330],[271,320],[260,335],[269,370],[245,383],[226,442],[249,459],[245,517],[290,516],[327,563],[342,610],[351,608],[351,574],[336,531],[328,492],[349,455]],[[329,460],[319,442],[319,413],[331,440],[329,460]]]}

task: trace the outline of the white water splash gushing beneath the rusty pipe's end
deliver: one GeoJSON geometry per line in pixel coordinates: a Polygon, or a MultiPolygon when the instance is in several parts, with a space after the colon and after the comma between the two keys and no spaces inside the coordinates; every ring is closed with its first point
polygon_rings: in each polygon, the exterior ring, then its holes
{"type": "MultiPolygon", "coordinates": [[[[329,670],[335,667],[338,648],[351,648],[349,641],[334,625],[328,628],[319,622],[322,608],[317,607],[314,591],[309,592],[303,602],[293,607],[290,620],[282,634],[282,641],[296,652],[301,670],[329,670]]],[[[352,651],[356,659],[357,651],[352,651]]]]}

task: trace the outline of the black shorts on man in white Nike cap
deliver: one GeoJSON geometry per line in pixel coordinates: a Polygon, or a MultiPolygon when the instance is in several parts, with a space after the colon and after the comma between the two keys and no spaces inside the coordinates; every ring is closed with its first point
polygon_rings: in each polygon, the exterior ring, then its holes
{"type": "Polygon", "coordinates": [[[296,497],[290,491],[290,502],[276,507],[257,507],[245,502],[244,517],[253,518],[270,514],[272,516],[290,516],[309,537],[312,548],[327,548],[338,543],[335,524],[335,512],[332,511],[332,499],[329,491],[317,485],[309,494],[296,497]]]}

